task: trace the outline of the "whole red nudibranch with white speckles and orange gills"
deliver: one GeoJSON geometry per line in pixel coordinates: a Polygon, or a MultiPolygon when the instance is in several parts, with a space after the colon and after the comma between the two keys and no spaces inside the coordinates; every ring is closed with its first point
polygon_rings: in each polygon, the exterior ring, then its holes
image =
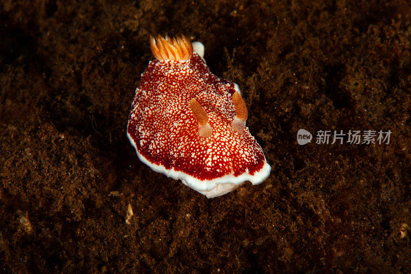
{"type": "Polygon", "coordinates": [[[156,60],[141,75],[127,125],[139,159],[208,198],[264,181],[271,167],[246,127],[238,85],[210,72],[199,42],[159,35],[150,44],[156,60]]]}

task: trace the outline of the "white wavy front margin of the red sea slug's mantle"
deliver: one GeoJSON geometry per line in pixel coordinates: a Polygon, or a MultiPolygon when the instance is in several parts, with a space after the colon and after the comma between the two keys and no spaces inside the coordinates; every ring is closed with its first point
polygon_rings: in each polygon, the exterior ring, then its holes
{"type": "Polygon", "coordinates": [[[133,138],[128,134],[128,131],[127,137],[130,140],[130,143],[132,143],[133,147],[136,149],[138,158],[140,159],[140,161],[145,163],[145,165],[150,167],[155,172],[162,173],[167,177],[176,180],[180,179],[184,185],[200,192],[203,195],[206,195],[207,198],[214,198],[227,194],[243,184],[245,181],[251,181],[251,184],[253,185],[261,184],[261,182],[263,182],[271,172],[271,166],[268,165],[267,161],[265,161],[263,168],[261,168],[261,170],[256,172],[254,175],[243,173],[239,176],[225,175],[213,180],[199,180],[184,172],[176,171],[174,170],[174,168],[167,170],[164,168],[164,166],[151,163],[138,152],[137,145],[134,142],[133,138]]]}

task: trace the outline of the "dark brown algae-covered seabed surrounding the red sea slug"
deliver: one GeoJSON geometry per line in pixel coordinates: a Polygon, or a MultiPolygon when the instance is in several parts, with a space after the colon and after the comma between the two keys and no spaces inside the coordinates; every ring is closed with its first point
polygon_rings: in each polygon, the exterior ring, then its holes
{"type": "Polygon", "coordinates": [[[409,2],[0,9],[0,272],[411,272],[409,2]],[[239,84],[263,184],[207,199],[138,160],[126,124],[157,33],[239,84]],[[302,146],[301,128],[393,133],[302,146]]]}

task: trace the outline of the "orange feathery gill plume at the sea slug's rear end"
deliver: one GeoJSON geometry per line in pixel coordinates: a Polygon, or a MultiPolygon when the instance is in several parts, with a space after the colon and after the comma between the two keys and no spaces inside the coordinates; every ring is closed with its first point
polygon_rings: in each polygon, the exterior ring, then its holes
{"type": "Polygon", "coordinates": [[[157,35],[154,38],[150,35],[151,51],[157,60],[188,60],[193,54],[193,45],[184,35],[175,36],[171,39],[165,35],[157,35]]]}

